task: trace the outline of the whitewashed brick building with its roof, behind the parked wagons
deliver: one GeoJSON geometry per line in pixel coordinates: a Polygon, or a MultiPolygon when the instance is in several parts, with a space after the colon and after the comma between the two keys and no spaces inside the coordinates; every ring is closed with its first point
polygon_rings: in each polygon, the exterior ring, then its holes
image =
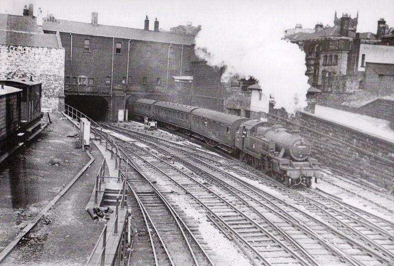
{"type": "Polygon", "coordinates": [[[33,76],[42,82],[42,107],[58,110],[64,100],[64,61],[59,34],[44,34],[33,5],[25,6],[23,16],[0,14],[0,79],[33,76]]]}

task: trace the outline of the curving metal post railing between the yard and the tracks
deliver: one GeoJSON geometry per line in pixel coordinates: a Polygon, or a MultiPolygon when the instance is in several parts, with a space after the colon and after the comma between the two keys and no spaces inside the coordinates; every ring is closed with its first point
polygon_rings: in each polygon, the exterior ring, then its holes
{"type": "MultiPolygon", "coordinates": [[[[106,159],[104,158],[101,166],[99,168],[99,171],[96,175],[96,184],[95,184],[95,205],[99,205],[99,200],[98,200],[98,195],[99,192],[105,192],[105,190],[101,190],[101,184],[105,183],[105,178],[114,178],[117,179],[118,182],[122,182],[121,188],[118,191],[118,194],[116,196],[116,205],[115,205],[115,222],[113,223],[111,229],[108,231],[108,223],[105,224],[104,228],[102,229],[99,239],[96,242],[96,245],[90,254],[88,261],[86,265],[89,265],[92,261],[93,255],[96,253],[99,243],[102,240],[102,247],[99,252],[99,257],[96,261],[96,266],[100,263],[100,265],[105,264],[105,250],[106,250],[106,244],[109,240],[109,235],[110,233],[113,232],[113,235],[118,235],[119,232],[119,206],[123,210],[125,208],[125,199],[126,199],[126,186],[127,186],[127,173],[128,173],[128,167],[129,167],[129,159],[124,159],[122,158],[118,145],[114,141],[114,139],[111,137],[111,135],[108,132],[104,132],[102,127],[90,119],[87,115],[83,114],[82,112],[78,111],[77,109],[73,108],[72,106],[69,106],[67,104],[64,104],[64,112],[66,115],[70,116],[72,119],[76,119],[77,121],[80,120],[81,118],[86,118],[88,121],[91,123],[91,132],[94,135],[95,139],[99,139],[100,143],[102,141],[105,141],[105,151],[110,151],[111,153],[111,159],[115,160],[115,169],[118,169],[118,176],[113,177],[113,176],[106,176],[105,171],[106,171],[106,159]],[[121,171],[121,166],[123,165],[122,161],[124,164],[126,164],[126,172],[123,173],[121,171]]],[[[126,230],[126,222],[123,225],[122,229],[122,243],[123,243],[123,250],[120,249],[122,245],[118,245],[118,251],[117,251],[117,261],[119,263],[120,260],[124,259],[125,255],[125,231],[126,230]]]]}

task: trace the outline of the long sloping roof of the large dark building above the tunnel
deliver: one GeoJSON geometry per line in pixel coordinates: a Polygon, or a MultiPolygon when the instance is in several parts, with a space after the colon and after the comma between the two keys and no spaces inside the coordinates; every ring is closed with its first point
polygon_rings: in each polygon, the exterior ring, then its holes
{"type": "Polygon", "coordinates": [[[92,36],[116,37],[124,39],[164,42],[174,44],[192,45],[194,35],[176,34],[169,32],[145,31],[119,26],[108,26],[99,24],[95,27],[92,23],[76,22],[68,20],[57,20],[57,22],[44,21],[42,29],[45,31],[76,33],[92,36]]]}

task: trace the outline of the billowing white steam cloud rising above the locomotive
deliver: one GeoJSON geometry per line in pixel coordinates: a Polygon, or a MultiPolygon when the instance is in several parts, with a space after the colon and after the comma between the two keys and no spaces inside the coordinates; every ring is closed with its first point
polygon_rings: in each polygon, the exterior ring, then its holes
{"type": "Polygon", "coordinates": [[[284,19],[275,14],[215,17],[202,25],[196,53],[211,66],[226,66],[223,81],[234,74],[255,77],[263,94],[275,99],[275,108],[294,113],[306,106],[309,85],[305,53],[281,40],[284,19]]]}

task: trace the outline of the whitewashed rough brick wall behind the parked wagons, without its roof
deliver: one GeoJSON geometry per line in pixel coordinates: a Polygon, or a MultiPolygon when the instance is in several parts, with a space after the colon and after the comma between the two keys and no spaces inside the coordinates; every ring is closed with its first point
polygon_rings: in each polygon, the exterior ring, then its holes
{"type": "Polygon", "coordinates": [[[0,45],[0,79],[30,77],[42,82],[42,107],[58,110],[64,94],[65,50],[0,45]]]}

